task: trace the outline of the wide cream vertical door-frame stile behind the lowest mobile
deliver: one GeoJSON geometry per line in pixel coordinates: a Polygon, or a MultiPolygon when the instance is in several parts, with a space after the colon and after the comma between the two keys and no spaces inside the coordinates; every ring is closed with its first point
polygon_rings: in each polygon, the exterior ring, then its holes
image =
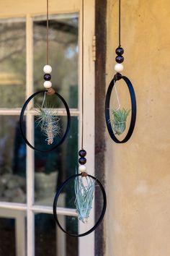
{"type": "MultiPolygon", "coordinates": [[[[94,37],[94,6],[95,1],[86,1],[84,4],[84,149],[87,152],[86,168],[88,174],[94,175],[94,61],[92,54],[92,40],[94,37]],[[90,103],[90,104],[89,104],[90,103]]],[[[82,12],[80,12],[80,40],[82,33],[82,12]]],[[[82,42],[79,42],[80,49],[82,42]]],[[[81,56],[81,52],[80,52],[81,56]]],[[[80,57],[80,67],[82,56],[80,57]]],[[[80,69],[81,70],[81,69],[80,69]]],[[[81,75],[81,72],[80,72],[81,75]]],[[[82,79],[82,78],[81,78],[82,79]]],[[[80,96],[81,102],[81,96],[80,96]]],[[[80,103],[81,106],[81,103],[80,103]]],[[[94,202],[90,213],[91,218],[86,224],[86,230],[94,226],[94,202]]],[[[84,233],[84,224],[79,221],[79,233],[84,233]]],[[[84,239],[79,239],[79,256],[94,255],[94,232],[86,236],[84,239]],[[86,247],[88,244],[88,247],[86,247]]]]}

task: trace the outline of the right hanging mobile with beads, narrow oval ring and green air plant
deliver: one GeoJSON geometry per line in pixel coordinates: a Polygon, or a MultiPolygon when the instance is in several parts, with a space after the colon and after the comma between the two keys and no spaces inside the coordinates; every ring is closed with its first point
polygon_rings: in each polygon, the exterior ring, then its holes
{"type": "Polygon", "coordinates": [[[124,57],[122,56],[122,54],[124,53],[124,50],[121,47],[120,35],[121,33],[120,33],[120,0],[119,0],[119,46],[115,51],[117,54],[115,59],[117,62],[117,64],[115,64],[115,71],[117,73],[113,77],[112,81],[109,83],[109,88],[107,89],[107,95],[105,100],[105,119],[106,119],[107,129],[112,140],[114,140],[117,143],[125,143],[130,139],[131,135],[133,134],[133,129],[135,127],[136,100],[135,100],[135,91],[133,89],[132,83],[130,82],[128,77],[122,76],[122,74],[120,74],[120,72],[122,72],[123,70],[122,62],[124,61],[124,57]],[[120,99],[117,93],[117,88],[115,83],[121,79],[124,80],[126,85],[128,86],[128,90],[130,93],[130,100],[131,100],[131,109],[121,108],[120,106],[120,99]],[[109,104],[110,104],[110,98],[111,98],[113,88],[115,88],[118,108],[112,109],[112,118],[110,118],[109,104]],[[118,140],[115,135],[122,135],[122,133],[125,131],[126,121],[130,112],[131,112],[131,120],[130,120],[130,127],[128,129],[128,133],[123,140],[118,140]]]}

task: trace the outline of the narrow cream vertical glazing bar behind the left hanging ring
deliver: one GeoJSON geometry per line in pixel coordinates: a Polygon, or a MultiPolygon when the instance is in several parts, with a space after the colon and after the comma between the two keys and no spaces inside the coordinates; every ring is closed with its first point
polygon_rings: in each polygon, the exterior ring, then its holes
{"type": "MultiPolygon", "coordinates": [[[[26,84],[26,98],[28,98],[33,91],[32,83],[32,19],[30,14],[27,14],[26,25],[26,42],[27,42],[27,84],[26,84]]],[[[34,116],[30,114],[30,103],[27,108],[26,115],[26,130],[27,139],[34,142],[34,116]]],[[[34,203],[34,151],[27,146],[27,255],[35,255],[35,218],[32,211],[34,203]]]]}

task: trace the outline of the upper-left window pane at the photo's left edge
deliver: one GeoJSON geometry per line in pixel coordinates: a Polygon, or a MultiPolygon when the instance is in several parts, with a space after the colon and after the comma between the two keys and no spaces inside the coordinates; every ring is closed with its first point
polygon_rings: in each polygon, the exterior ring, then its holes
{"type": "Polygon", "coordinates": [[[25,22],[0,20],[0,108],[21,107],[25,92],[25,22]]]}

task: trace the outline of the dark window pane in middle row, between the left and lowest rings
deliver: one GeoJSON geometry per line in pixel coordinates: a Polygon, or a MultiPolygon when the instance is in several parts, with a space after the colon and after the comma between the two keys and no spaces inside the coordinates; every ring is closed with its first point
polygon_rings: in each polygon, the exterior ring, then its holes
{"type": "MultiPolygon", "coordinates": [[[[60,116],[65,129],[64,120],[66,116],[60,116]]],[[[68,137],[61,146],[50,153],[39,153],[35,151],[35,202],[38,205],[53,205],[53,198],[56,188],[68,176],[74,174],[77,165],[78,152],[78,118],[71,117],[71,129],[68,137]]],[[[48,145],[40,130],[35,132],[35,146],[47,149],[48,145]]],[[[68,194],[71,191],[66,189],[60,200],[60,206],[74,207],[69,203],[68,194]]]]}

